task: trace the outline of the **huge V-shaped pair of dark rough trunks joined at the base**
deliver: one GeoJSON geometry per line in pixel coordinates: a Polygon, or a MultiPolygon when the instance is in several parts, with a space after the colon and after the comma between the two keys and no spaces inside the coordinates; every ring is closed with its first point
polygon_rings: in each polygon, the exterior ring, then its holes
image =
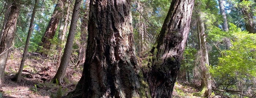
{"type": "Polygon", "coordinates": [[[67,97],[169,98],[188,36],[194,0],[173,0],[145,79],[134,52],[130,1],[91,0],[82,77],[67,97]],[[148,79],[150,92],[143,84],[148,79]],[[142,90],[141,90],[142,89],[142,90]],[[142,96],[146,95],[146,96],[142,96]]]}

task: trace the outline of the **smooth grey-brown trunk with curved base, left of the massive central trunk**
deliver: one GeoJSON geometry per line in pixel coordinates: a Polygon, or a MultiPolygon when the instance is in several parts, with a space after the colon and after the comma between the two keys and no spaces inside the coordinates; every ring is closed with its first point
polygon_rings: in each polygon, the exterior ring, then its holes
{"type": "Polygon", "coordinates": [[[60,62],[60,66],[57,70],[57,73],[55,74],[52,80],[53,83],[56,83],[56,79],[57,79],[59,85],[62,84],[63,78],[66,75],[67,66],[69,65],[70,55],[72,53],[72,47],[73,47],[73,42],[75,37],[75,29],[77,27],[77,19],[78,19],[80,5],[81,5],[81,0],[75,0],[75,5],[73,9],[73,14],[71,18],[71,23],[68,31],[68,37],[67,37],[64,53],[60,62]]]}

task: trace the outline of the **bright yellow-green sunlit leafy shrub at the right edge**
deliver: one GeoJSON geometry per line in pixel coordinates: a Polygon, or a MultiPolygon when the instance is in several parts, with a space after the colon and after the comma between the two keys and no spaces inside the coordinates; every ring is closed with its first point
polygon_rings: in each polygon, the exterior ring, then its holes
{"type": "Polygon", "coordinates": [[[240,31],[234,33],[236,40],[230,50],[224,50],[219,57],[219,64],[212,69],[215,76],[240,75],[256,76],[256,35],[240,31]]]}

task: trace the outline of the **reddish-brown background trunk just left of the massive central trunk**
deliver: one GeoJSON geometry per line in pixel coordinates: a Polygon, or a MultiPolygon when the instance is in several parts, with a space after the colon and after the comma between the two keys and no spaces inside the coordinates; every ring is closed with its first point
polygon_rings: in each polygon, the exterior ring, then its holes
{"type": "Polygon", "coordinates": [[[86,52],[86,36],[88,29],[88,19],[87,14],[83,16],[82,25],[81,25],[81,35],[80,35],[80,44],[78,50],[78,61],[77,66],[82,66],[85,63],[85,52],[86,52]]]}

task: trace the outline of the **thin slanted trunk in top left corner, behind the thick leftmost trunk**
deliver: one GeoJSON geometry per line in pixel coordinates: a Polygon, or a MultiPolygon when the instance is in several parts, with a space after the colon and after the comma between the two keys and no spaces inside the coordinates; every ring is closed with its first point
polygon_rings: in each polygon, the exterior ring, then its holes
{"type": "Polygon", "coordinates": [[[3,37],[3,34],[4,34],[4,29],[5,29],[5,26],[6,26],[6,23],[9,19],[9,15],[10,15],[10,6],[12,4],[11,0],[5,0],[7,5],[5,5],[4,8],[6,8],[6,11],[5,11],[5,14],[4,14],[4,21],[3,21],[3,24],[2,24],[2,29],[1,29],[1,32],[0,32],[0,41],[3,37]]]}

